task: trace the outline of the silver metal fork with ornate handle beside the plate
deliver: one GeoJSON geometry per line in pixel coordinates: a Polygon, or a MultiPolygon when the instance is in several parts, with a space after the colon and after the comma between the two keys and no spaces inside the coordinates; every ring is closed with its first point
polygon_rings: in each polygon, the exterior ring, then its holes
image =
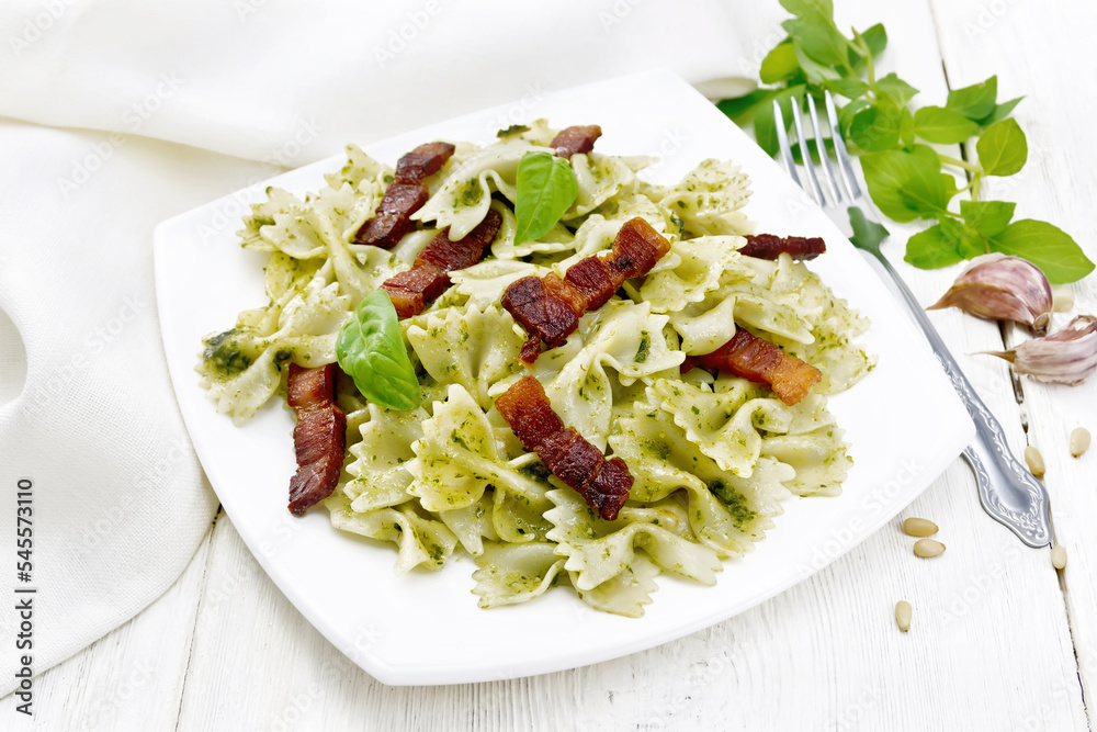
{"type": "MultiPolygon", "coordinates": [[[[807,147],[807,137],[804,135],[804,123],[800,104],[793,99],[791,105],[792,122],[796,131],[800,154],[804,161],[806,184],[801,182],[798,174],[796,165],[792,157],[792,148],[789,145],[789,136],[785,132],[784,120],[781,114],[781,106],[774,100],[773,117],[777,123],[778,146],[780,147],[784,167],[792,179],[815,199],[816,203],[823,207],[826,214],[844,232],[848,232],[850,230],[848,223],[849,207],[855,204],[863,205],[864,194],[858,184],[849,153],[846,150],[845,140],[841,138],[838,114],[829,91],[825,94],[825,101],[837,168],[845,187],[839,185],[838,179],[832,169],[829,154],[823,144],[823,126],[819,124],[818,113],[815,110],[815,100],[811,94],[807,94],[807,111],[818,150],[819,162],[817,166],[812,160],[811,151],[807,147]],[[819,176],[816,174],[816,167],[826,181],[827,193],[829,195],[824,195],[823,187],[819,185],[819,176]]],[[[867,214],[866,217],[872,221],[871,215],[867,214]]],[[[892,280],[894,280],[895,286],[903,295],[903,300],[906,301],[906,305],[914,315],[914,319],[925,331],[926,339],[929,340],[929,345],[934,349],[934,354],[940,362],[949,381],[952,382],[952,387],[960,395],[964,406],[968,408],[968,414],[971,415],[972,421],[975,423],[975,439],[964,450],[963,455],[975,473],[975,482],[979,486],[979,499],[983,505],[983,509],[994,519],[1013,530],[1029,547],[1045,547],[1051,543],[1047,488],[1013,455],[1009,446],[1006,443],[1002,425],[991,414],[991,410],[986,408],[986,405],[983,404],[971,382],[964,376],[960,364],[949,353],[949,349],[945,345],[945,341],[941,340],[937,329],[934,328],[929,318],[926,317],[926,313],[918,303],[918,300],[892,268],[887,258],[880,251],[880,246],[869,245],[868,243],[855,243],[855,246],[875,257],[887,274],[891,275],[892,280]]]]}

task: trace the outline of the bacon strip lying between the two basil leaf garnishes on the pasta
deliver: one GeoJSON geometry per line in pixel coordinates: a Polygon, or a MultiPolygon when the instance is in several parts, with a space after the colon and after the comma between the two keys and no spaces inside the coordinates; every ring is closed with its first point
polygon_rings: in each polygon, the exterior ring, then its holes
{"type": "Polygon", "coordinates": [[[502,216],[488,210],[476,228],[463,239],[450,241],[450,229],[438,233],[415,258],[411,269],[395,274],[381,285],[388,293],[400,317],[418,315],[450,286],[446,272],[472,267],[484,256],[502,225],[502,216]]]}

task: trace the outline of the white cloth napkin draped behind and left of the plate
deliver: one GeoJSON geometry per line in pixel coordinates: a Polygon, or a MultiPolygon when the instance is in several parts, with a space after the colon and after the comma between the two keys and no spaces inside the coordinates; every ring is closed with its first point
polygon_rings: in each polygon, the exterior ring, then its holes
{"type": "MultiPolygon", "coordinates": [[[[756,64],[744,49],[764,13],[740,4],[4,2],[0,634],[21,622],[12,590],[38,588],[34,673],[167,589],[217,505],[160,347],[157,222],[348,142],[505,102],[500,126],[533,119],[541,97],[578,83],[666,66],[749,88],[735,78],[756,64]],[[14,566],[24,477],[27,583],[14,566]]],[[[658,103],[636,100],[636,114],[658,103]]],[[[18,662],[0,654],[0,694],[18,662]]]]}

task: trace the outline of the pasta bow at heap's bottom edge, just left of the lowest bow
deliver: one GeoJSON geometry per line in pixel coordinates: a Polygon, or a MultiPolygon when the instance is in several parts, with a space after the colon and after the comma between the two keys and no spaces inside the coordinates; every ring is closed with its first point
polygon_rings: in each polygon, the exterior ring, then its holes
{"type": "Polygon", "coordinates": [[[528,603],[541,597],[564,570],[564,558],[556,555],[556,544],[531,542],[508,544],[489,542],[476,558],[473,594],[482,608],[528,603]]]}

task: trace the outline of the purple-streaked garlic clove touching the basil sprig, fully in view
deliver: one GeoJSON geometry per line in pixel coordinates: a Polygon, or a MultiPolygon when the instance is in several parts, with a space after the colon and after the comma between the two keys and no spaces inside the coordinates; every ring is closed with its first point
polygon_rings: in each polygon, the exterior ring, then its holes
{"type": "Polygon", "coordinates": [[[1051,322],[1051,285],[1039,267],[1020,257],[983,255],[971,260],[936,304],[985,318],[1016,320],[1043,333],[1051,322]]]}

